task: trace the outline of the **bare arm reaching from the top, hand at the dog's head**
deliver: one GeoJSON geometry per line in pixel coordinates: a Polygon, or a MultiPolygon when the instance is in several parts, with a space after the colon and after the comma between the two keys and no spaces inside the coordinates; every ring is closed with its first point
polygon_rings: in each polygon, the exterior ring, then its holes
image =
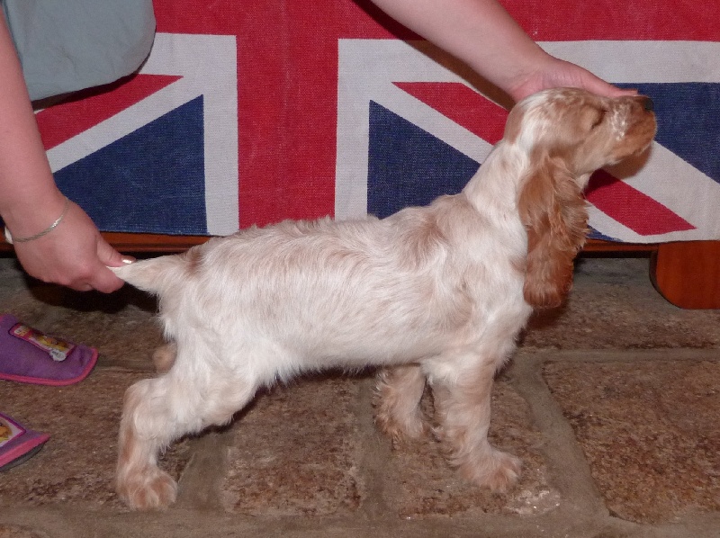
{"type": "Polygon", "coordinates": [[[519,101],[555,86],[596,94],[621,90],[590,71],[547,54],[496,0],[373,0],[410,30],[463,60],[519,101]]]}

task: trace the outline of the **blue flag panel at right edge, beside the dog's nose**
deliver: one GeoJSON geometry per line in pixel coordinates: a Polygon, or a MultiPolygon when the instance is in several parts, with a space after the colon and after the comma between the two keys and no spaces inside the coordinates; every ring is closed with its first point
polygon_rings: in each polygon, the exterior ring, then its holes
{"type": "MultiPolygon", "coordinates": [[[[622,84],[650,95],[658,117],[655,140],[720,183],[720,84],[622,84]]],[[[680,178],[679,178],[680,179],[680,178]]]]}

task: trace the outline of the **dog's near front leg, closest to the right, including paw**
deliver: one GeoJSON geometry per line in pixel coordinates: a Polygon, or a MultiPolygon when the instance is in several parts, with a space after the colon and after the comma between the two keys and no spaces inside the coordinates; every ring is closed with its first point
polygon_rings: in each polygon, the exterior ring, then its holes
{"type": "Polygon", "coordinates": [[[520,461],[488,442],[491,391],[496,363],[483,362],[454,380],[434,381],[438,438],[446,444],[447,459],[466,480],[505,491],[518,480],[520,461]]]}

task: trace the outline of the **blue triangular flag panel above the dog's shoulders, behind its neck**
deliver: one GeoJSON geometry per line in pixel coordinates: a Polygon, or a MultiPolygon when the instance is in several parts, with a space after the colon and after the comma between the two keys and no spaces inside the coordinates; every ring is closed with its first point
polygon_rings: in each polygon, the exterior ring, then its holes
{"type": "Polygon", "coordinates": [[[370,102],[367,212],[380,218],[459,193],[480,165],[378,103],[370,102]]]}

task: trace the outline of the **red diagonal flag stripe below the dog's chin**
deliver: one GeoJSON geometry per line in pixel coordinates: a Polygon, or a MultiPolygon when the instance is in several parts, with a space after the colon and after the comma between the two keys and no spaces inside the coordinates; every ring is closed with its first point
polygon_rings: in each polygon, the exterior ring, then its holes
{"type": "Polygon", "coordinates": [[[695,229],[662,203],[605,170],[599,170],[590,177],[586,197],[600,211],[641,236],[695,229]]]}

